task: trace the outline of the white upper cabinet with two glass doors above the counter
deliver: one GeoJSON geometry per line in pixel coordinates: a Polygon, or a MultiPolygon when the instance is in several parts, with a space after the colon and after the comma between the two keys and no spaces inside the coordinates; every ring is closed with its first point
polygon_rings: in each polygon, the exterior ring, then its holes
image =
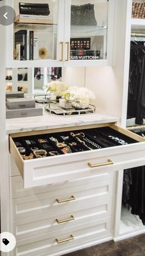
{"type": "MultiPolygon", "coordinates": [[[[14,8],[15,23],[7,26],[7,67],[96,66],[112,63],[114,0],[44,0],[49,4],[49,20],[19,19],[18,0],[6,0],[14,8]],[[84,10],[84,5],[87,10],[84,10]],[[73,15],[73,8],[76,14],[73,15]],[[86,13],[87,12],[87,13],[86,13]],[[84,18],[85,17],[85,18],[84,18]],[[37,37],[37,58],[18,60],[15,33],[23,30],[37,37]],[[9,45],[9,41],[13,43],[9,45]],[[45,54],[39,52],[43,49],[45,54]],[[14,58],[15,52],[15,60],[14,58]]],[[[29,1],[23,1],[29,2],[29,1]]],[[[39,0],[31,0],[39,3],[39,0]]]]}

